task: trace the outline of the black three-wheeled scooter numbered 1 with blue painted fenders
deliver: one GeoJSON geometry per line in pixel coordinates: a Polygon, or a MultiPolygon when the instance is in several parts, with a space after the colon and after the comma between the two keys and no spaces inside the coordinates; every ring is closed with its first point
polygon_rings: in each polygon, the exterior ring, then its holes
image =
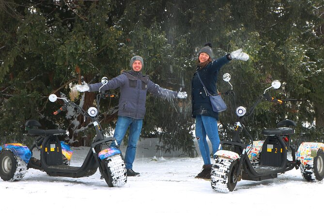
{"type": "MultiPolygon", "coordinates": [[[[107,84],[107,77],[102,78],[103,86],[107,84]]],[[[100,92],[100,91],[99,91],[100,92]]],[[[58,158],[57,164],[48,164],[46,158],[51,152],[62,153],[61,141],[59,136],[66,134],[63,129],[43,130],[39,129],[41,124],[35,120],[29,120],[26,123],[28,135],[34,137],[33,145],[28,148],[20,143],[9,143],[0,146],[0,177],[4,181],[20,180],[29,168],[45,171],[50,176],[64,177],[86,177],[93,175],[97,169],[102,177],[107,182],[108,186],[122,186],[127,182],[126,169],[123,161],[123,155],[115,138],[105,137],[104,131],[101,129],[100,123],[97,121],[97,113],[99,109],[100,98],[111,96],[107,93],[99,93],[97,95],[98,108],[89,108],[88,112],[83,110],[77,104],[68,101],[65,98],[57,97],[55,94],[49,96],[51,102],[61,99],[64,105],[54,114],[66,110],[68,107],[74,107],[84,117],[90,118],[96,131],[96,136],[91,144],[91,148],[80,167],[66,166],[62,163],[62,156],[58,158]],[[114,142],[116,147],[102,150],[104,145],[109,145],[114,142]],[[40,150],[40,160],[32,157],[34,148],[40,150]],[[114,165],[111,165],[114,164],[114,165]],[[111,166],[113,169],[110,169],[111,166]]]]}

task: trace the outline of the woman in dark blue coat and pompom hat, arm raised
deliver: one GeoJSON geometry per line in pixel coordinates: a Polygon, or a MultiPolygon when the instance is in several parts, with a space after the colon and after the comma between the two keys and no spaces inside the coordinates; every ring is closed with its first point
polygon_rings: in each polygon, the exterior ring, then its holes
{"type": "Polygon", "coordinates": [[[210,179],[211,160],[209,145],[206,140],[208,136],[212,144],[213,154],[219,146],[218,137],[218,112],[214,112],[210,99],[207,96],[201,81],[210,94],[217,94],[217,75],[219,69],[232,59],[247,61],[248,55],[242,49],[231,52],[219,59],[212,60],[213,50],[210,43],[205,44],[199,51],[197,71],[192,78],[192,116],[196,118],[196,139],[203,159],[204,165],[201,172],[195,178],[210,179]],[[201,81],[198,78],[198,74],[201,81]]]}

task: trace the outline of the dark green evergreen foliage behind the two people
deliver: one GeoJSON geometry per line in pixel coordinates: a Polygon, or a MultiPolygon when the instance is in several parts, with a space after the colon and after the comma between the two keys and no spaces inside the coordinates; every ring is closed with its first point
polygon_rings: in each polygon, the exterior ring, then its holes
{"type": "MultiPolygon", "coordinates": [[[[71,94],[85,77],[89,83],[129,70],[133,55],[144,58],[144,73],[154,83],[188,93],[186,100],[148,95],[142,137],[159,137],[163,150],[194,155],[191,78],[198,50],[213,44],[215,57],[243,48],[248,62],[232,61],[219,74],[217,88],[228,89],[221,76],[232,75],[237,105],[250,107],[278,79],[283,105],[262,103],[249,117],[255,139],[282,119],[297,123],[299,140],[323,141],[324,4],[322,0],[0,0],[0,137],[24,141],[24,123],[39,120],[44,128],[68,128],[73,145],[89,145],[91,130],[77,115],[52,112],[50,93],[79,100],[87,109],[94,94],[71,94]],[[78,120],[79,124],[75,124],[78,120]],[[77,134],[78,131],[78,134],[77,134]]],[[[114,127],[116,99],[102,102],[104,128],[114,127]]],[[[220,114],[220,137],[231,138],[235,121],[231,98],[220,114]]],[[[297,140],[297,139],[296,139],[297,140]]]]}

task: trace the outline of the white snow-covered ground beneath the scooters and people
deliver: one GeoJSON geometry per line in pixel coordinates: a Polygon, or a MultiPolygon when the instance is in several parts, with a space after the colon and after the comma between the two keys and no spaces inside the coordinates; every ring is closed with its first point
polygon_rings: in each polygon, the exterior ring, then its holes
{"type": "MultiPolygon", "coordinates": [[[[139,144],[134,170],[141,176],[129,177],[123,187],[108,187],[98,171],[74,179],[30,169],[21,181],[0,179],[0,216],[323,215],[324,183],[304,181],[300,170],[272,180],[243,180],[233,192],[222,194],[209,181],[194,178],[201,157],[156,154],[155,160],[148,149],[154,145],[139,144]]],[[[74,148],[71,165],[82,163],[87,151],[74,148]]]]}

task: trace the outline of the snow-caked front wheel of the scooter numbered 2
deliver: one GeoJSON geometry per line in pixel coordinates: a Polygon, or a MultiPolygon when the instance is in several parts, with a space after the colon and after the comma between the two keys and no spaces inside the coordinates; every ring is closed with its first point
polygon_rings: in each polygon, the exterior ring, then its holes
{"type": "Polygon", "coordinates": [[[228,193],[235,189],[237,184],[238,160],[226,157],[216,157],[212,167],[212,188],[221,193],[228,193]]]}

